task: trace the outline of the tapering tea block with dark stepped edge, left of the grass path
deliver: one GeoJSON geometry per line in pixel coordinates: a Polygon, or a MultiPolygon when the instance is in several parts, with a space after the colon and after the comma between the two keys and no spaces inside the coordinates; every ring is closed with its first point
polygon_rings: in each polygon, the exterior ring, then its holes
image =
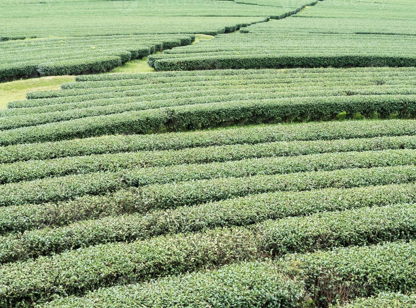
{"type": "Polygon", "coordinates": [[[106,72],[156,50],[191,44],[194,38],[193,35],[118,35],[0,42],[0,81],[106,72]]]}

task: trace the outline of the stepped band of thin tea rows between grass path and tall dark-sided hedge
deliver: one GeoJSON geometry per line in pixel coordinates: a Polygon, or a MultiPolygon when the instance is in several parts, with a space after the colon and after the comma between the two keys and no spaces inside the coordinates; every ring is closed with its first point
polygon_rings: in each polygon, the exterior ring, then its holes
{"type": "Polygon", "coordinates": [[[242,72],[245,71],[225,70],[218,71],[225,75],[176,78],[168,74],[162,77],[141,74],[147,78],[131,76],[134,78],[66,83],[62,84],[63,90],[30,92],[28,100],[10,102],[9,109],[1,112],[3,116],[10,116],[2,119],[2,127],[48,123],[48,118],[55,122],[94,114],[244,99],[415,93],[415,72],[412,70],[345,70],[334,74],[328,74],[326,70],[242,72]]]}

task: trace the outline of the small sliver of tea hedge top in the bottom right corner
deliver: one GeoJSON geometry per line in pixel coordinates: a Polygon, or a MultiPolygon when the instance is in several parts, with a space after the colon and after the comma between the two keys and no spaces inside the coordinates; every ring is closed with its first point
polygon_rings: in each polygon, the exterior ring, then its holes
{"type": "Polygon", "coordinates": [[[343,308],[414,308],[416,306],[416,294],[403,293],[379,293],[369,298],[358,298],[343,308]]]}

